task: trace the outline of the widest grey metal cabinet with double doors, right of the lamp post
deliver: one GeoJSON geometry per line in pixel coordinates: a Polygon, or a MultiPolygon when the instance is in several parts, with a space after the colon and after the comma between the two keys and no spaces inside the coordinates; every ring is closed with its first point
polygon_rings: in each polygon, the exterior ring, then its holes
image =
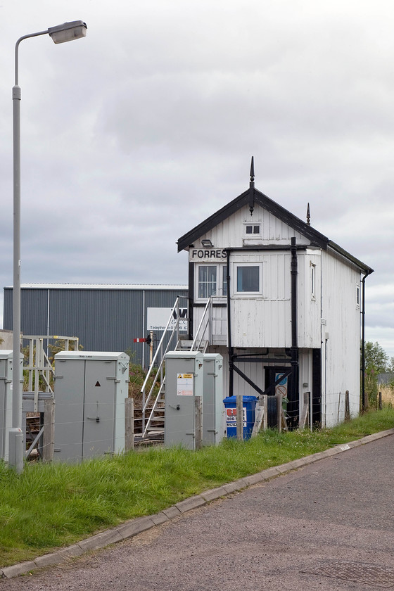
{"type": "Polygon", "coordinates": [[[125,448],[129,356],[63,351],[55,355],[55,459],[83,459],[125,448]]]}

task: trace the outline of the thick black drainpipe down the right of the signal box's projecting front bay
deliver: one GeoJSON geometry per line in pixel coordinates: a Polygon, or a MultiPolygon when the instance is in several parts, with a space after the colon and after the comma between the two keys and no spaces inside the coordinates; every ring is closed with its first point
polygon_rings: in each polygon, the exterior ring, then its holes
{"type": "Polygon", "coordinates": [[[291,239],[291,395],[290,422],[295,428],[298,424],[298,338],[297,338],[297,246],[295,238],[291,239]]]}

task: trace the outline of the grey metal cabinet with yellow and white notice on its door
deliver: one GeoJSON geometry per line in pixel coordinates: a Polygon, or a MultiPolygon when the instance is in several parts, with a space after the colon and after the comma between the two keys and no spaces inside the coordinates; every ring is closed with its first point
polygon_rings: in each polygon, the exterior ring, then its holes
{"type": "Polygon", "coordinates": [[[196,449],[196,397],[203,396],[203,354],[171,351],[165,355],[164,445],[196,449]]]}

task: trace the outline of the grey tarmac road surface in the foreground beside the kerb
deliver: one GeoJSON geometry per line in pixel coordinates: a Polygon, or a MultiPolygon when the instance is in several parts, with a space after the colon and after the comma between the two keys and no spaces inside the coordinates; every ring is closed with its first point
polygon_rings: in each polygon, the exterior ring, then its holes
{"type": "Polygon", "coordinates": [[[394,435],[0,590],[394,589],[394,435]]]}

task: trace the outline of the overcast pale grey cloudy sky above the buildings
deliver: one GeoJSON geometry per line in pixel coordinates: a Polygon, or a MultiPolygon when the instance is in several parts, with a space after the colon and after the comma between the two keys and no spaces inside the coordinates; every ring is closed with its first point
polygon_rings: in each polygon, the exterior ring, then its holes
{"type": "MultiPolygon", "coordinates": [[[[22,282],[185,284],[176,241],[255,184],[375,269],[394,355],[392,0],[0,0],[0,298],[12,285],[15,41],[22,282]]],[[[2,314],[0,300],[0,326],[2,314]]]]}

